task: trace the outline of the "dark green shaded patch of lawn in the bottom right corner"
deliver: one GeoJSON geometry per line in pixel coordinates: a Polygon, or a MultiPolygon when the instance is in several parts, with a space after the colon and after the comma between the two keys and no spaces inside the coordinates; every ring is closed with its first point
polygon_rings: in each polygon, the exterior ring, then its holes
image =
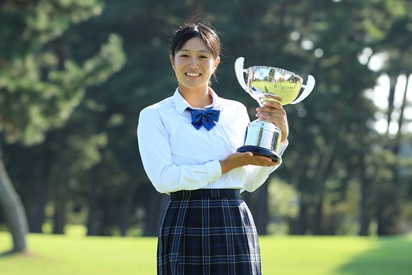
{"type": "Polygon", "coordinates": [[[377,248],[354,257],[339,267],[337,273],[350,275],[410,275],[412,240],[385,237],[376,240],[377,248]]]}

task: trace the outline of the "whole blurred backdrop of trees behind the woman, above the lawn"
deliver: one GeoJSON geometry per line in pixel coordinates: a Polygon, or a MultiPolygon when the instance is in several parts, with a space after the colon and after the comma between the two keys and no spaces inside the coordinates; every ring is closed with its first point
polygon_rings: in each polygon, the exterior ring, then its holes
{"type": "Polygon", "coordinates": [[[286,106],[282,166],[243,193],[260,234],[412,231],[412,3],[407,0],[0,1],[0,230],[156,236],[167,195],[137,148],[144,107],[172,96],[173,31],[220,32],[214,90],[254,120],[233,63],[316,78],[286,106]]]}

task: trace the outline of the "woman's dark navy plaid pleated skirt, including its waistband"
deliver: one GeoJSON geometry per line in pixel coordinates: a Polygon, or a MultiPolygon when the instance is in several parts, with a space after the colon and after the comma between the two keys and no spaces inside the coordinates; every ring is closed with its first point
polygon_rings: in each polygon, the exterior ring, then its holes
{"type": "Polygon", "coordinates": [[[258,233],[239,190],[172,192],[159,230],[157,274],[262,274],[258,233]]]}

